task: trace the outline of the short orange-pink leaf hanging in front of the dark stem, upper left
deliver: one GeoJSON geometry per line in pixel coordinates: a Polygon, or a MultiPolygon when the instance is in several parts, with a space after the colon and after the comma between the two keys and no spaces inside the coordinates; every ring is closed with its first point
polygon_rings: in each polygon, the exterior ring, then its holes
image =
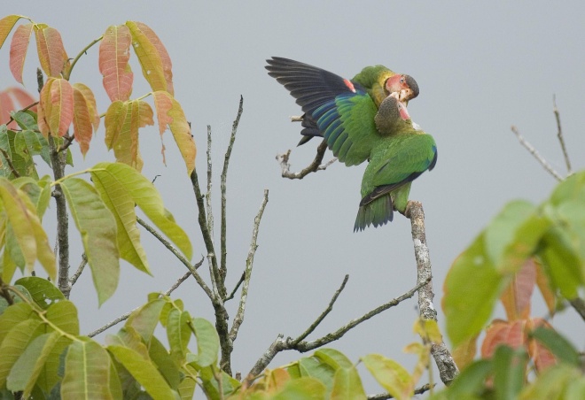
{"type": "MultiPolygon", "coordinates": [[[[64,79],[50,79],[41,90],[41,109],[39,119],[43,117],[43,123],[47,124],[52,135],[63,136],[73,121],[74,94],[71,84],[64,79]]],[[[43,132],[44,135],[44,132],[43,132]]]]}

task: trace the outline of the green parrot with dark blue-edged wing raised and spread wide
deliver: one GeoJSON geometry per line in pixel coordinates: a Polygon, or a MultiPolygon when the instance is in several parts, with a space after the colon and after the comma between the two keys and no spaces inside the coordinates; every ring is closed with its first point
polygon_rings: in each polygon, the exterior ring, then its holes
{"type": "Polygon", "coordinates": [[[333,155],[346,165],[363,163],[384,135],[377,131],[373,115],[387,96],[397,92],[406,104],[418,96],[417,81],[383,65],[367,66],[349,81],[288,58],[267,62],[269,75],[291,92],[305,112],[299,145],[323,136],[333,155]]]}

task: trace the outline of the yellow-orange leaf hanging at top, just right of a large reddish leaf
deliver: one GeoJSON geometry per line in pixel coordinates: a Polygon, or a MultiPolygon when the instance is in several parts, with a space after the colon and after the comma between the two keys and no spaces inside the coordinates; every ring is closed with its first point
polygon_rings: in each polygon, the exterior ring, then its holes
{"type": "MultiPolygon", "coordinates": [[[[152,91],[168,91],[167,79],[165,77],[162,58],[159,50],[155,47],[151,39],[142,31],[134,21],[127,21],[126,26],[130,29],[132,35],[132,46],[136,56],[142,66],[144,79],[148,81],[152,91]]],[[[172,88],[171,88],[172,90],[172,88]]]]}

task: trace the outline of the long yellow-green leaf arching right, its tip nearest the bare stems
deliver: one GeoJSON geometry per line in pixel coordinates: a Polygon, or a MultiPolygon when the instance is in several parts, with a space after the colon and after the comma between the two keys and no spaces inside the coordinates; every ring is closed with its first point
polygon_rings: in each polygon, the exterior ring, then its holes
{"type": "Polygon", "coordinates": [[[105,176],[117,181],[115,186],[112,184],[113,188],[105,188],[105,191],[111,193],[112,190],[119,190],[119,188],[128,191],[134,202],[154,225],[175,243],[186,258],[191,259],[192,248],[189,236],[176,224],[173,215],[165,209],[159,191],[142,173],[121,163],[99,163],[92,168],[91,175],[94,182],[106,179],[105,176]]]}

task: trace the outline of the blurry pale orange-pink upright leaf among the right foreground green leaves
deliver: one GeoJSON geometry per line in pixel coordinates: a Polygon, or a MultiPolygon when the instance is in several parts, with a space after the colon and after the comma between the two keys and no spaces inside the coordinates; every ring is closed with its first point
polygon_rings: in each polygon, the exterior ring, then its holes
{"type": "Polygon", "coordinates": [[[527,319],[530,315],[530,298],[536,282],[536,268],[529,258],[515,273],[508,288],[500,296],[508,320],[527,319]]]}

